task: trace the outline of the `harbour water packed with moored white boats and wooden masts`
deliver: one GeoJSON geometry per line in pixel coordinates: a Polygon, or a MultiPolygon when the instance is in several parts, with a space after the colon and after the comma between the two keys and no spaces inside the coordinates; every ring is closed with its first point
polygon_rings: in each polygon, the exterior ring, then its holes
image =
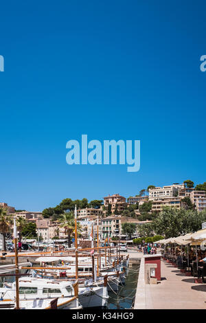
{"type": "Polygon", "coordinates": [[[111,247],[106,241],[104,247],[100,246],[99,237],[96,247],[92,238],[90,248],[78,248],[76,214],[75,208],[75,249],[60,252],[52,249],[19,254],[14,219],[15,252],[2,254],[1,260],[14,258],[15,264],[0,267],[0,309],[132,307],[134,288],[129,298],[127,293],[132,276],[137,280],[137,265],[131,269],[129,254],[121,253],[121,247],[111,247]],[[19,258],[27,261],[19,263],[19,258]]]}

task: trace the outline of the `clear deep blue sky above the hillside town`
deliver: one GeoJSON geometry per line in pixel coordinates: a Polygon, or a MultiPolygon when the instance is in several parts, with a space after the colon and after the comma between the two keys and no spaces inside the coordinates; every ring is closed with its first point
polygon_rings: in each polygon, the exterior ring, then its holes
{"type": "Polygon", "coordinates": [[[0,201],[125,197],[206,181],[205,1],[1,3],[0,201]],[[141,140],[141,168],[66,164],[66,143],[141,140]]]}

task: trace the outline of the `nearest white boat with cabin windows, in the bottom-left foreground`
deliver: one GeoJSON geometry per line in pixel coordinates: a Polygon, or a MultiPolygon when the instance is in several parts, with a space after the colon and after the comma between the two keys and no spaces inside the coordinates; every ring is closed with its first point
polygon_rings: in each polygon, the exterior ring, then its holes
{"type": "MultiPolygon", "coordinates": [[[[0,309],[14,308],[16,282],[0,288],[0,309]]],[[[20,309],[49,309],[57,300],[57,309],[82,309],[71,282],[55,282],[39,278],[19,278],[20,309]]]]}

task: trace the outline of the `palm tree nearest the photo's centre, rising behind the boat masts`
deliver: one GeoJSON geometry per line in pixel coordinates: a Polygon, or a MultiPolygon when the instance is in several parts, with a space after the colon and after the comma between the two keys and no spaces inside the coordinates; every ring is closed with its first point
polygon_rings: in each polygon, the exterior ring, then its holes
{"type": "MultiPolygon", "coordinates": [[[[75,232],[75,221],[73,212],[64,212],[60,216],[60,227],[64,227],[65,234],[67,234],[68,247],[71,247],[71,235],[75,232]]],[[[80,225],[77,223],[78,230],[80,230],[80,225]]]]}

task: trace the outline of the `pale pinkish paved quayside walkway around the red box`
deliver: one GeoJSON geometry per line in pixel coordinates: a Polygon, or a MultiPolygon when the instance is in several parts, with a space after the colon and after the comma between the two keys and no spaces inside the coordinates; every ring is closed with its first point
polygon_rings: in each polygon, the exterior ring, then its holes
{"type": "Polygon", "coordinates": [[[206,284],[161,259],[161,281],[146,285],[141,258],[134,309],[206,309],[206,284]]]}

